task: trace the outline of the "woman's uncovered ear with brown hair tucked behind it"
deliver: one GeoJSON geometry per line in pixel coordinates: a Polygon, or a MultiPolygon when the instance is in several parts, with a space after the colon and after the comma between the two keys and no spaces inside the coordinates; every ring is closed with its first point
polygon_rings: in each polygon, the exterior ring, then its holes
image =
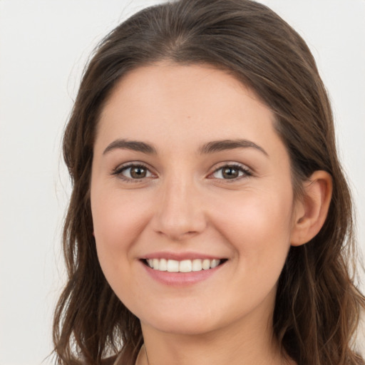
{"type": "Polygon", "coordinates": [[[296,203],[292,246],[304,245],[317,235],[326,220],[332,196],[332,178],[326,171],[315,171],[304,182],[304,196],[296,203]]]}

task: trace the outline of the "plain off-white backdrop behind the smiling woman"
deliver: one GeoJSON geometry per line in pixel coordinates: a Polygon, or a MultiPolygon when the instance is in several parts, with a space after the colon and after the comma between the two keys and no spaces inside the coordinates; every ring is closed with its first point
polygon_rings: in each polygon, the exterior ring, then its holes
{"type": "MultiPolygon", "coordinates": [[[[262,2],[299,31],[317,59],[364,250],[365,1],[262,2]]],[[[52,364],[70,192],[62,131],[93,47],[121,20],[156,3],[0,0],[0,365],[52,364]]]]}

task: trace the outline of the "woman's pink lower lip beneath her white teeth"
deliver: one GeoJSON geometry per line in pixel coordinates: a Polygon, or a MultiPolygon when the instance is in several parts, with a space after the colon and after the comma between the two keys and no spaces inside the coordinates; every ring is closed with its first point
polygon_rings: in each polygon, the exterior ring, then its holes
{"type": "Polygon", "coordinates": [[[225,264],[220,264],[214,269],[192,271],[192,272],[168,272],[152,269],[141,262],[146,272],[156,281],[173,287],[183,287],[196,284],[214,275],[225,264]]]}

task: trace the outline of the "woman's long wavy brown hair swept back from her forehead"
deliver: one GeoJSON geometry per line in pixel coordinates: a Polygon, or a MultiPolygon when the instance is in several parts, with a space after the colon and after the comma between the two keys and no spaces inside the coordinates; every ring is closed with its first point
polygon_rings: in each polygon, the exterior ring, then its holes
{"type": "Polygon", "coordinates": [[[96,125],[128,71],[161,60],[208,63],[254,90],[276,116],[297,198],[315,170],[333,179],[327,220],[306,245],[291,247],[279,277],[274,333],[299,365],[365,364],[351,348],[365,298],[351,275],[351,196],[336,154],[327,92],[303,39],[277,14],[249,0],[181,0],[153,6],[101,42],[83,75],[63,138],[73,192],[63,230],[68,282],[53,324],[58,364],[101,364],[123,349],[133,364],[140,322],[115,296],[98,263],[90,206],[96,125]]]}

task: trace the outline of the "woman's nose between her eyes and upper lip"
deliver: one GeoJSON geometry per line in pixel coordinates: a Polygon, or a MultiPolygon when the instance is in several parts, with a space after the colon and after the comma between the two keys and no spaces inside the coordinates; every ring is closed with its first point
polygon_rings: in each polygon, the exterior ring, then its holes
{"type": "Polygon", "coordinates": [[[207,225],[202,195],[192,179],[166,181],[158,193],[153,228],[170,240],[198,235],[207,225]]]}

